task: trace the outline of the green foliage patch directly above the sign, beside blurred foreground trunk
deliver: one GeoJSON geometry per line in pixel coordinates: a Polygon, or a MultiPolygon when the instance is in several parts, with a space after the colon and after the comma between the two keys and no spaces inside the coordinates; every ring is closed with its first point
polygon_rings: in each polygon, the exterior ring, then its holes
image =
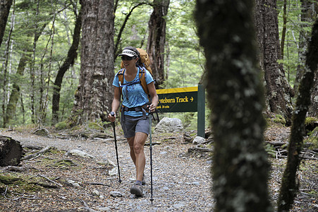
{"type": "Polygon", "coordinates": [[[167,17],[169,57],[164,88],[197,86],[204,72],[204,55],[192,16],[195,1],[171,1],[167,17]]]}

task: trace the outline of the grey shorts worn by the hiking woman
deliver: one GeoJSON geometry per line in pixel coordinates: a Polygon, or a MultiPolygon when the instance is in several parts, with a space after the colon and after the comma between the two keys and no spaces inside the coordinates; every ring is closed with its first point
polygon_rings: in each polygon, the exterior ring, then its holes
{"type": "Polygon", "coordinates": [[[125,116],[124,120],[121,120],[121,128],[125,138],[135,136],[136,132],[142,132],[149,134],[149,116],[143,117],[130,117],[125,116]]]}

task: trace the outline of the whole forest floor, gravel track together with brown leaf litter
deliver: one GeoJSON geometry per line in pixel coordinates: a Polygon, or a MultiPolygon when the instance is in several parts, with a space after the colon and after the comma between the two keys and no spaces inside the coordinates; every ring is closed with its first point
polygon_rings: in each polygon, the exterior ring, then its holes
{"type": "MultiPolygon", "coordinates": [[[[35,179],[40,180],[36,188],[26,189],[21,184],[0,182],[0,211],[213,211],[211,153],[193,151],[194,145],[190,141],[185,142],[181,133],[153,134],[152,142],[156,145],[152,147],[154,201],[151,203],[149,146],[145,146],[147,184],[144,196],[136,198],[129,192],[135,181],[135,167],[130,159],[128,143],[119,129],[116,133],[121,183],[118,175],[109,175],[116,168],[114,139],[111,136],[102,139],[90,136],[63,138],[37,136],[28,131],[1,131],[4,136],[20,141],[24,147],[53,148],[21,163],[25,170],[19,174],[27,176],[24,178],[30,184],[35,179]],[[94,158],[68,154],[74,149],[94,158]],[[48,186],[43,187],[43,184],[48,186]]],[[[112,134],[111,129],[108,134],[112,134]]],[[[286,128],[269,128],[264,139],[286,142],[288,134],[286,128]]],[[[286,158],[269,160],[269,192],[275,204],[286,158]]],[[[0,171],[0,176],[8,173],[15,172],[0,171]]],[[[298,172],[300,192],[292,211],[317,211],[317,173],[317,160],[302,160],[298,172]]]]}

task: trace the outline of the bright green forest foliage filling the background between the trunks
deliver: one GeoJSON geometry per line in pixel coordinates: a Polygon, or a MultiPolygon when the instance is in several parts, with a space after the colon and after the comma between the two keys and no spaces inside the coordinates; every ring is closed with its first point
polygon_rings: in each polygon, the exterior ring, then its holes
{"type": "MultiPolygon", "coordinates": [[[[33,2],[33,1],[32,1],[33,2]]],[[[0,47],[0,95],[6,98],[0,99],[1,106],[0,120],[2,122],[6,105],[11,93],[13,83],[19,83],[20,96],[16,107],[16,114],[11,121],[11,126],[21,124],[41,123],[51,124],[51,98],[52,88],[56,73],[59,67],[66,59],[69,47],[72,43],[73,28],[75,24],[75,13],[80,8],[78,1],[72,1],[77,8],[69,1],[39,1],[39,10],[37,4],[28,0],[16,0],[16,6],[11,7],[11,13],[8,17],[4,42],[0,47]],[[6,57],[6,41],[8,40],[11,21],[13,20],[13,8],[16,9],[14,17],[14,28],[12,31],[11,43],[9,44],[8,64],[4,64],[6,57]],[[35,35],[40,35],[37,42],[35,35]],[[35,52],[33,48],[35,47],[35,52]],[[27,59],[23,74],[17,74],[21,56],[27,53],[27,59]],[[31,78],[34,76],[34,84],[31,78]],[[6,84],[4,85],[4,82],[6,84]],[[40,88],[43,92],[40,93],[40,88]],[[5,93],[4,93],[5,90],[5,93]],[[31,112],[31,95],[35,94],[35,114],[31,112]],[[46,95],[47,93],[47,95],[46,95]],[[44,111],[40,111],[44,102],[47,101],[44,111]],[[42,102],[42,105],[40,105],[42,102]],[[44,112],[44,116],[42,116],[44,112]],[[41,117],[42,116],[42,117],[41,117]]],[[[128,18],[126,27],[121,35],[118,45],[118,51],[128,45],[146,48],[148,37],[148,20],[152,14],[152,6],[145,1],[145,4],[137,6],[128,18]]],[[[134,6],[140,4],[140,1],[128,0],[118,1],[115,13],[114,40],[127,14],[134,6]]],[[[192,16],[196,1],[177,1],[171,0],[166,19],[166,52],[165,71],[167,81],[162,88],[180,88],[197,86],[204,73],[204,54],[197,37],[197,30],[192,16]]],[[[279,29],[282,29],[282,4],[277,2],[279,11],[279,29]]],[[[295,73],[299,64],[298,50],[300,30],[310,32],[312,23],[300,23],[300,1],[288,1],[288,23],[285,43],[285,57],[282,61],[286,70],[286,76],[291,85],[295,79],[295,73]]],[[[118,52],[117,52],[118,53],[118,52]]],[[[78,50],[78,59],[75,61],[63,77],[61,86],[59,121],[68,119],[73,107],[74,90],[78,86],[80,73],[80,49],[78,50]]],[[[120,69],[120,59],[116,59],[114,71],[120,69]]],[[[181,117],[181,115],[177,115],[181,117]]],[[[186,126],[195,129],[195,115],[185,114],[184,123],[186,126]]],[[[74,117],[73,117],[74,118],[74,117]]],[[[76,118],[76,117],[75,117],[76,118]]],[[[65,125],[64,125],[65,126],[65,125]]],[[[64,127],[61,126],[61,127],[64,127]]],[[[70,124],[71,126],[71,124],[70,124]]]]}

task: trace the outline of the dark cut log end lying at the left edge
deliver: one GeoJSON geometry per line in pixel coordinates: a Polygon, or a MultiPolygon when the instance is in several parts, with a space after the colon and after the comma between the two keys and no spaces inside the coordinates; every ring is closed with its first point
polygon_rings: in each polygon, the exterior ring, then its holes
{"type": "Polygon", "coordinates": [[[0,166],[19,165],[23,149],[19,141],[0,136],[0,166]]]}

